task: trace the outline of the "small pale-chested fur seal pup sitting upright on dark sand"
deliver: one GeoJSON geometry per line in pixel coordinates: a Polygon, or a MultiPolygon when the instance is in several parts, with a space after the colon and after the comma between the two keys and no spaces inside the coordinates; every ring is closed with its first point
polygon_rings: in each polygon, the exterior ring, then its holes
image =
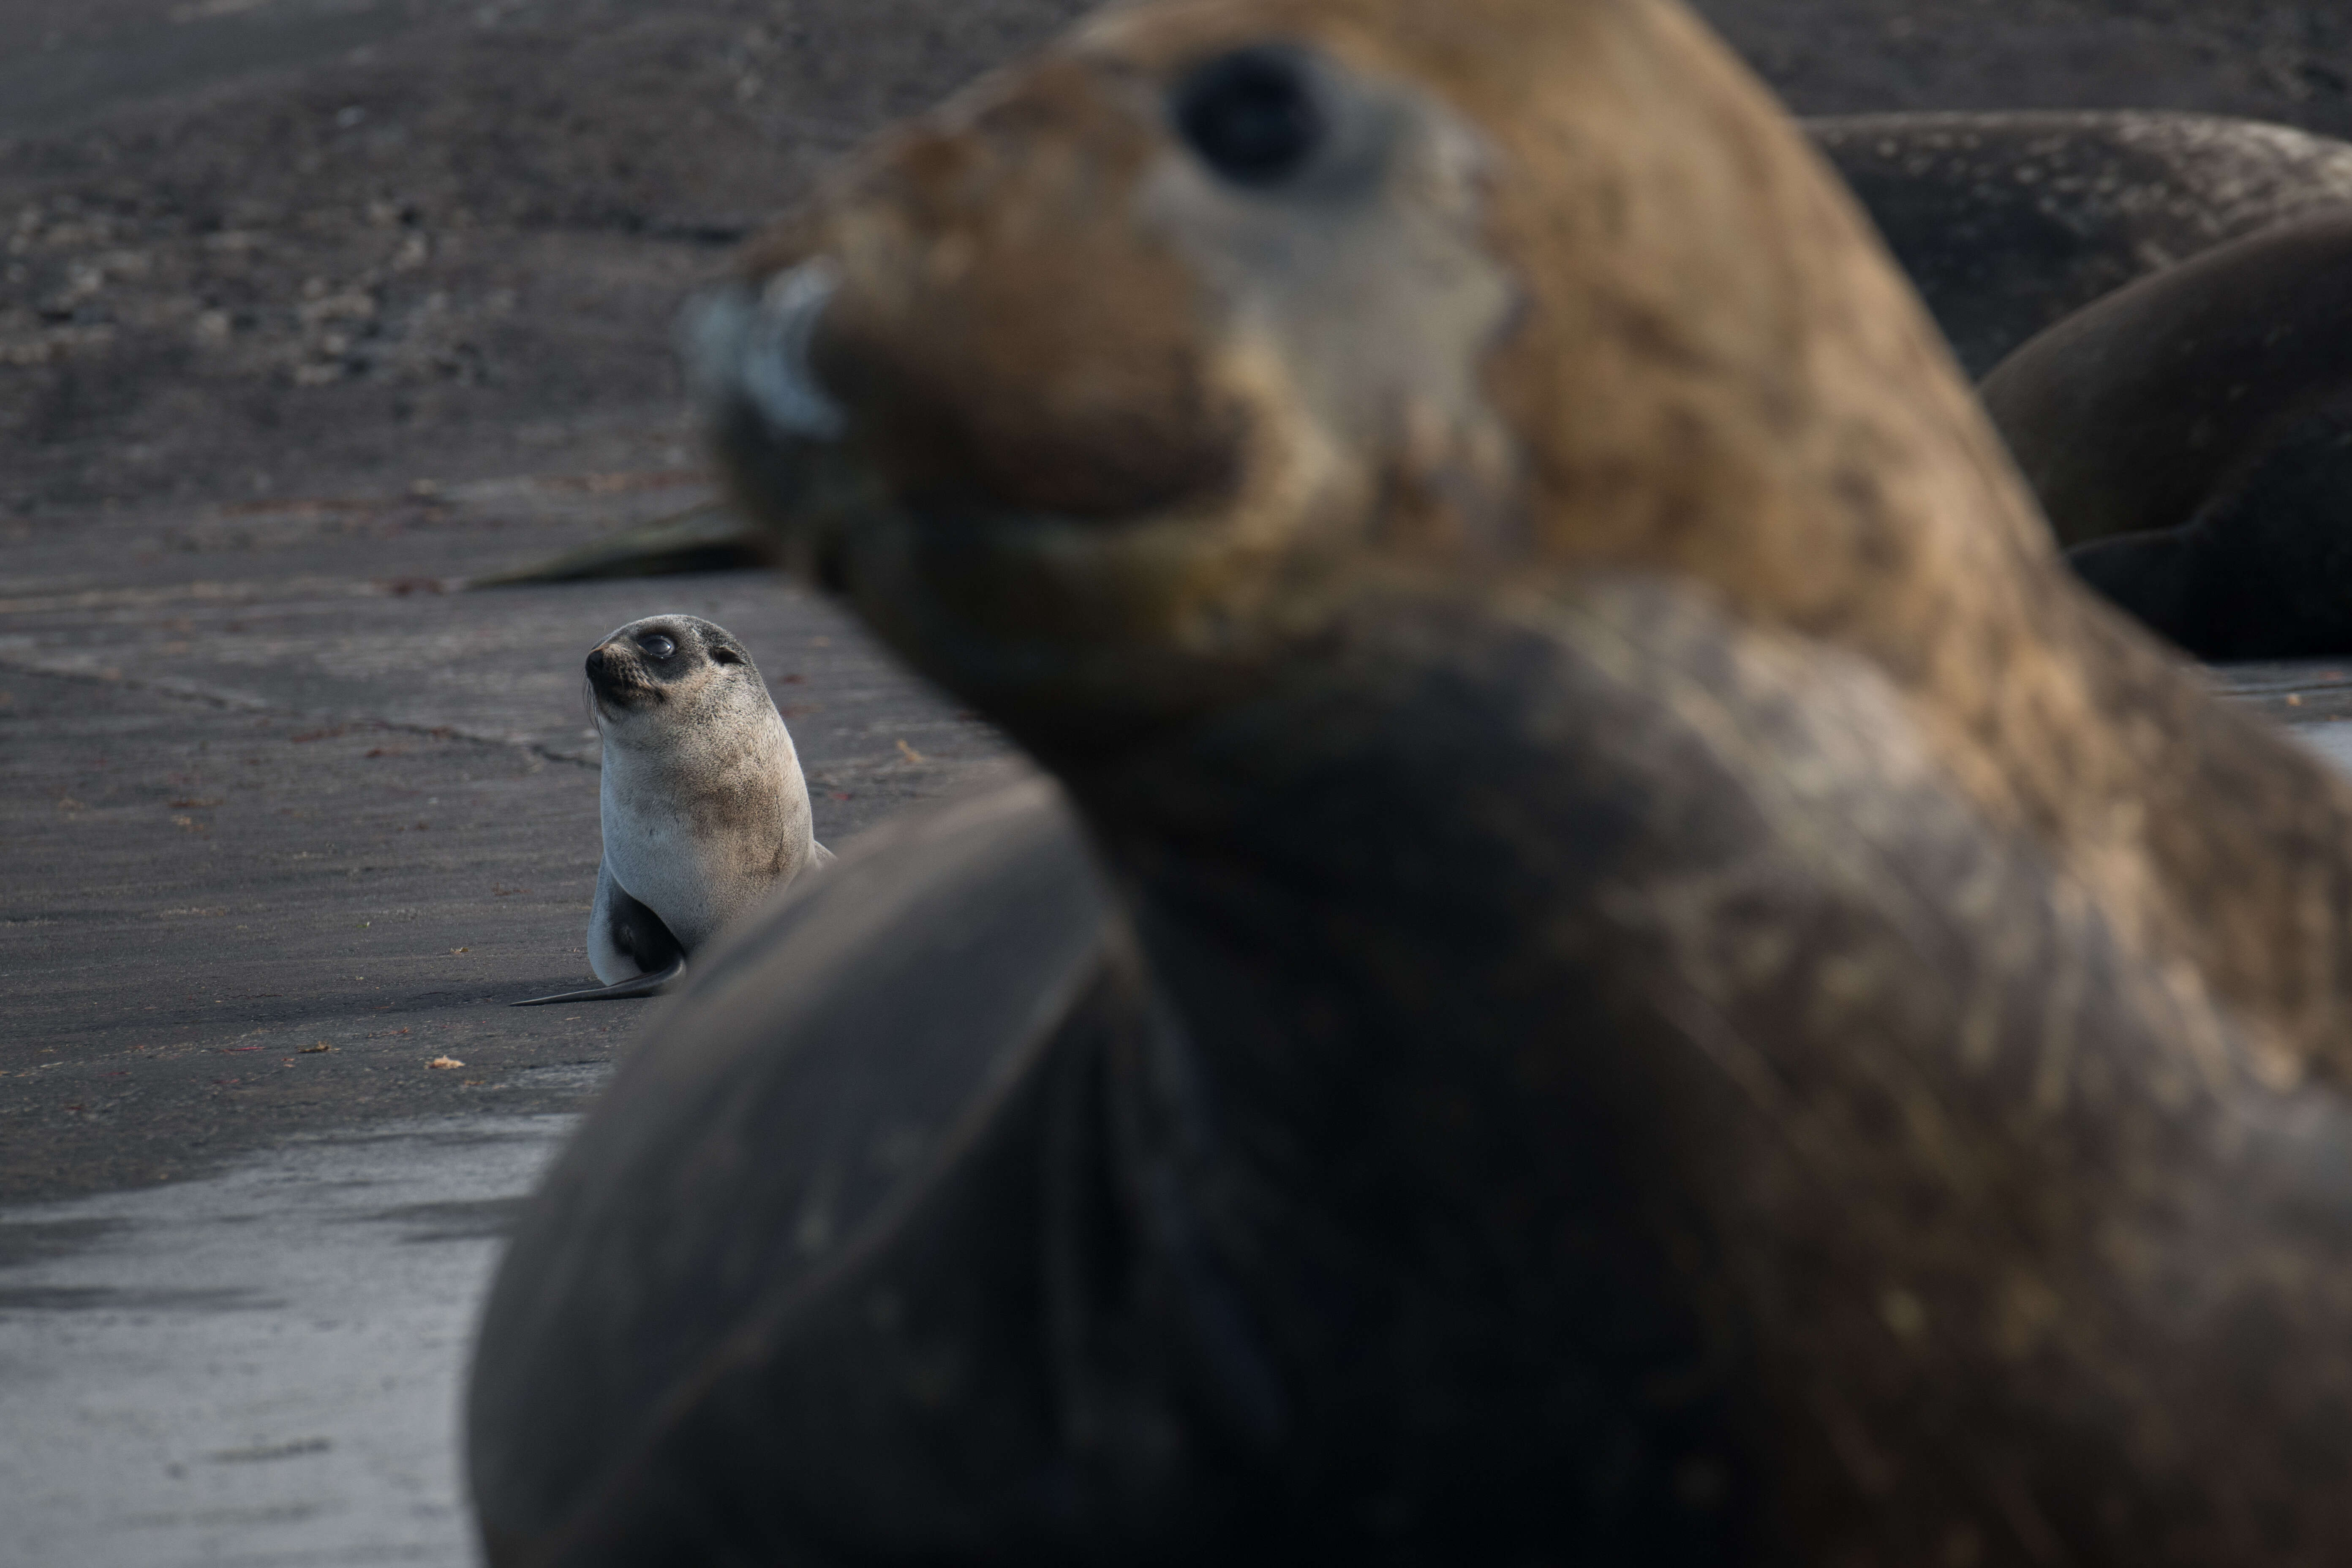
{"type": "Polygon", "coordinates": [[[720,929],[833,860],[793,736],[727,628],[630,621],[588,649],[588,696],[604,736],[588,964],[604,987],[515,1006],[652,997],[720,929]]]}

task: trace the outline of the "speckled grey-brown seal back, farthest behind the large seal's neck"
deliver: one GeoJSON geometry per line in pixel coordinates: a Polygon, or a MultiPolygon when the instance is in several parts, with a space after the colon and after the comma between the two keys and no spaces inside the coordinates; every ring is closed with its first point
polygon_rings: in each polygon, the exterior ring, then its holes
{"type": "Polygon", "coordinates": [[[1804,129],[1971,376],[2129,282],[2352,205],[2352,146],[2260,120],[2030,110],[1804,129]]]}

